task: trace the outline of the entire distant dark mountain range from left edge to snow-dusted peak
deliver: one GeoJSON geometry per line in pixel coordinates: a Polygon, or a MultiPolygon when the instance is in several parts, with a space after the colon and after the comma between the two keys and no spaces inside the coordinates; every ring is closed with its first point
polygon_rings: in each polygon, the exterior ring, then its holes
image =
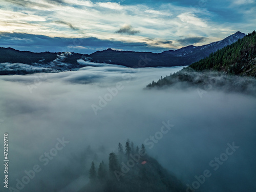
{"type": "Polygon", "coordinates": [[[77,70],[90,65],[90,62],[109,63],[132,68],[188,66],[209,56],[210,53],[231,45],[244,36],[244,33],[237,32],[221,41],[212,42],[205,46],[187,46],[175,51],[169,50],[162,53],[107,49],[90,55],[83,55],[68,52],[33,53],[12,48],[0,48],[0,75],[77,70]],[[79,62],[80,59],[87,62],[79,62]]]}

